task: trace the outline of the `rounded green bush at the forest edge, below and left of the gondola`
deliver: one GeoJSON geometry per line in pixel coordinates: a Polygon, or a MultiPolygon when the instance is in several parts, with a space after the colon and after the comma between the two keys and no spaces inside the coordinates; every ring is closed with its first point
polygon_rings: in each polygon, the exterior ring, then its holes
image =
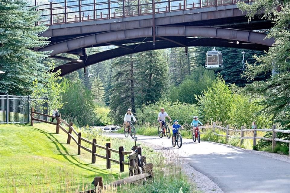
{"type": "Polygon", "coordinates": [[[195,68],[192,74],[187,76],[181,84],[169,89],[168,99],[182,103],[196,103],[195,95],[200,95],[204,90],[208,90],[214,78],[213,71],[208,71],[202,67],[195,68]]]}

